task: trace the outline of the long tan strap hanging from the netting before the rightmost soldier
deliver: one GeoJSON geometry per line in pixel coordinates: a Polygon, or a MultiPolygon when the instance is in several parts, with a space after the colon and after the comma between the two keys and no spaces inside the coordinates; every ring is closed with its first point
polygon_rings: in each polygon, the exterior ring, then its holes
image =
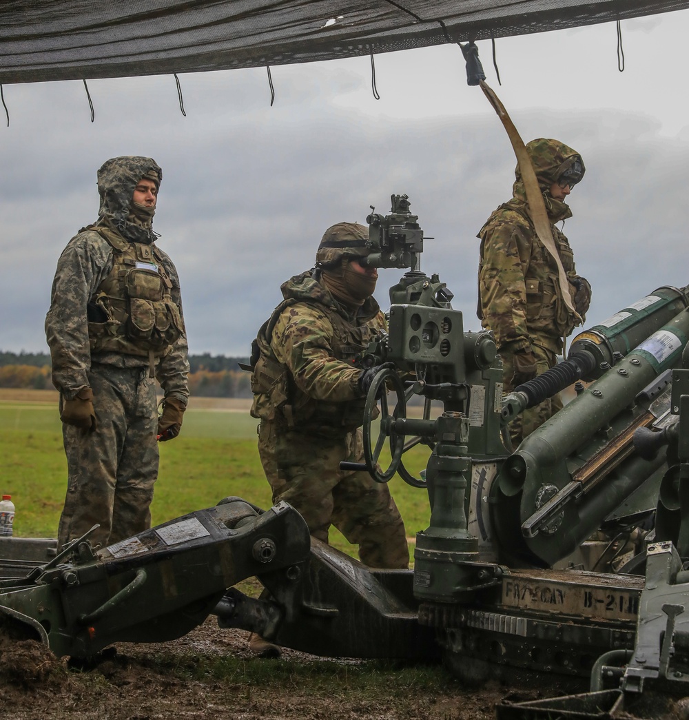
{"type": "Polygon", "coordinates": [[[572,312],[572,315],[574,315],[579,321],[579,324],[581,324],[582,318],[572,304],[572,295],[569,292],[569,280],[567,279],[567,273],[565,273],[564,268],[562,267],[562,260],[560,259],[557,248],[555,247],[553,233],[550,228],[550,220],[548,218],[548,213],[546,212],[546,204],[544,202],[543,195],[541,194],[539,181],[536,179],[536,171],[533,169],[533,163],[526,152],[526,145],[524,145],[524,141],[521,139],[514,123],[510,120],[510,116],[508,115],[507,110],[505,110],[505,106],[502,102],[500,102],[500,98],[498,98],[495,92],[485,81],[482,80],[480,82],[480,86],[487,97],[488,102],[490,102],[493,109],[495,109],[495,112],[497,112],[497,117],[500,118],[505,126],[505,130],[507,130],[514,154],[517,156],[519,171],[524,181],[528,214],[531,216],[533,227],[536,228],[536,235],[555,261],[557,266],[557,278],[564,304],[567,305],[567,310],[572,312]]]}

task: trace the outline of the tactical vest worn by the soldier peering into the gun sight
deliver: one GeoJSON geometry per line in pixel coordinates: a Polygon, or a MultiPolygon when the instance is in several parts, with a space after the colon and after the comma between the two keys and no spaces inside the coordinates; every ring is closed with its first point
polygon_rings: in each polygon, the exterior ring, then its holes
{"type": "Polygon", "coordinates": [[[261,325],[252,344],[251,390],[253,405],[251,415],[261,420],[276,420],[282,426],[300,432],[321,436],[341,436],[363,424],[366,397],[348,402],[326,402],[306,395],[295,384],[292,373],[278,361],[271,348],[271,338],[278,318],[290,305],[305,303],[328,315],[333,326],[333,356],[353,364],[356,356],[364,351],[383,327],[353,325],[336,310],[320,303],[289,298],[273,311],[261,325]]]}

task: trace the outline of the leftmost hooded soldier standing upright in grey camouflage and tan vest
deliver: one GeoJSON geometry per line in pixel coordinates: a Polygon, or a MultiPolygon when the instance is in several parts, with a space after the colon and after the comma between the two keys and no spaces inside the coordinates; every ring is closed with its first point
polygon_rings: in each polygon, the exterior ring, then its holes
{"type": "Polygon", "coordinates": [[[96,523],[94,546],[150,528],[157,441],[181,427],[189,364],[179,278],[153,233],[162,178],[150,158],[106,161],[98,220],[58,261],[45,319],[68,465],[58,546],[96,523]]]}

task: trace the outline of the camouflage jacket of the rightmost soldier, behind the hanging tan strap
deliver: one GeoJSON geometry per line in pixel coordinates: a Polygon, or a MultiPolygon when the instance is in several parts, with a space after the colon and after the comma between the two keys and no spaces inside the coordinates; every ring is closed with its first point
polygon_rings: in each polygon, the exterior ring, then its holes
{"type": "MultiPolygon", "coordinates": [[[[555,226],[555,222],[572,217],[572,211],[564,202],[550,197],[547,190],[553,180],[547,171],[557,169],[567,151],[576,153],[566,145],[557,150],[550,163],[541,161],[539,166],[534,161],[534,166],[573,302],[577,286],[586,281],[577,275],[572,248],[555,226]]],[[[564,304],[557,264],[536,235],[528,215],[526,192],[518,171],[513,196],[492,212],[478,234],[481,239],[478,315],[483,327],[493,331],[498,348],[528,350],[532,343],[537,343],[559,353],[562,338],[572,332],[576,318],[564,304]]]]}

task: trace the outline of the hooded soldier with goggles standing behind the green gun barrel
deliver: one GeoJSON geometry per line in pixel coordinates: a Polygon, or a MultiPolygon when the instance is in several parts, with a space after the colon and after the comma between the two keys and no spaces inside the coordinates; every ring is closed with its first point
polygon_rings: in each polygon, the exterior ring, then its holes
{"type": "MultiPolygon", "coordinates": [[[[571,305],[581,321],[590,305],[590,284],[577,275],[574,254],[556,222],[572,217],[564,200],[585,173],[581,156],[558,140],[539,138],[526,145],[543,194],[571,305]]],[[[478,315],[492,330],[503,359],[505,392],[554,366],[564,338],[579,318],[562,297],[556,261],[536,235],[519,167],[513,198],[495,210],[481,228],[478,315]]],[[[562,408],[559,396],[523,413],[510,425],[516,447],[562,408]]]]}

